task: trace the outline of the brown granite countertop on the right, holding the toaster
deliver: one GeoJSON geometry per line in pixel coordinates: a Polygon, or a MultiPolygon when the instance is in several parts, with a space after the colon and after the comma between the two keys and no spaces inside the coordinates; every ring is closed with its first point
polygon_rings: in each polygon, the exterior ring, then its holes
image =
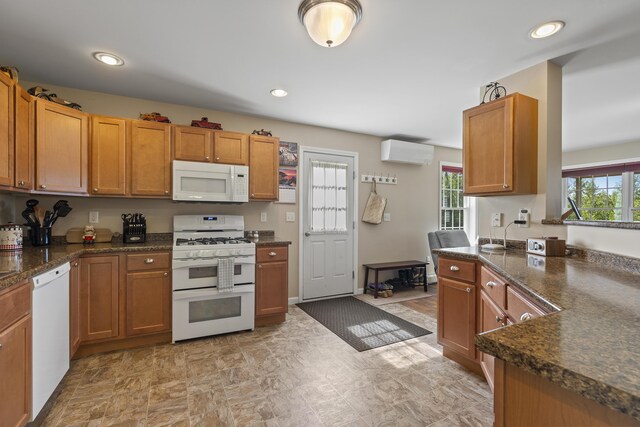
{"type": "Polygon", "coordinates": [[[441,249],[480,260],[551,314],[476,336],[476,346],[640,420],[640,274],[579,257],[441,249]]]}

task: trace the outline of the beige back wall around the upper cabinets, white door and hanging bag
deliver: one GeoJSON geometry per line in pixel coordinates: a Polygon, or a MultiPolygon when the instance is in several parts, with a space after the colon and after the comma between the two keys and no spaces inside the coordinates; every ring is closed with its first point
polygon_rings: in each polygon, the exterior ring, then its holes
{"type": "MultiPolygon", "coordinates": [[[[35,83],[22,82],[25,87],[35,83]]],[[[402,259],[423,260],[427,256],[426,233],[438,226],[438,167],[440,161],[461,162],[460,150],[436,147],[431,165],[414,166],[380,161],[381,138],[343,132],[334,129],[307,126],[279,120],[252,117],[234,113],[205,110],[175,104],[165,104],[127,98],[98,92],[89,92],[46,84],[44,87],[59,96],[82,105],[94,114],[137,118],[141,112],[158,111],[169,116],[173,123],[189,124],[192,119],[208,116],[210,121],[222,123],[224,129],[251,133],[253,129],[269,129],[283,141],[298,142],[303,146],[325,147],[355,151],[359,154],[359,172],[396,175],[398,185],[381,185],[379,193],[387,197],[387,212],[391,222],[374,226],[359,222],[358,265],[363,263],[402,259]]],[[[361,215],[369,194],[368,184],[358,184],[358,212],[361,215]]],[[[31,197],[31,196],[29,196],[31,197]]],[[[17,214],[22,211],[27,196],[16,196],[17,214]]],[[[62,197],[34,196],[45,206],[52,206],[62,197]]],[[[120,214],[143,212],[148,218],[149,232],[170,232],[172,217],[177,214],[221,213],[245,217],[246,229],[273,229],[281,238],[291,240],[289,266],[289,296],[298,295],[298,205],[252,202],[243,205],[186,204],[165,200],[111,199],[67,197],[73,212],[54,226],[54,235],[64,235],[71,227],[82,227],[88,222],[89,210],[100,213],[98,227],[121,232],[120,214]],[[296,213],[296,222],[285,222],[286,212],[296,213]],[[268,221],[260,222],[260,212],[267,212],[268,221]]],[[[362,271],[358,286],[362,286],[362,271]]]]}

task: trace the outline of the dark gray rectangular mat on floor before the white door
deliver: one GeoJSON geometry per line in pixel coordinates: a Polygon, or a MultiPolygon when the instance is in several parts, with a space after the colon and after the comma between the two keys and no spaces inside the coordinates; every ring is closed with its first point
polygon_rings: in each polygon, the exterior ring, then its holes
{"type": "Polygon", "coordinates": [[[431,333],[351,296],[303,302],[297,306],[358,351],[431,333]]]}

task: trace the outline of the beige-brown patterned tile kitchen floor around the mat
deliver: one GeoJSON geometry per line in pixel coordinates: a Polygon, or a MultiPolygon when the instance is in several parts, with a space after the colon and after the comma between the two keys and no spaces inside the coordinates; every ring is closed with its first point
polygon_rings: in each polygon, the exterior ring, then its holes
{"type": "Polygon", "coordinates": [[[434,333],[358,353],[287,321],[79,359],[45,426],[490,426],[484,380],[441,355],[436,298],[384,305],[434,333]]]}

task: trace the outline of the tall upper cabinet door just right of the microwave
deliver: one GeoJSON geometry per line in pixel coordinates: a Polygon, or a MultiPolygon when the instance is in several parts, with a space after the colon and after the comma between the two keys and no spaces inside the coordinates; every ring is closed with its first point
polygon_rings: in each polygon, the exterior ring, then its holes
{"type": "Polygon", "coordinates": [[[280,140],[268,136],[249,137],[249,198],[278,200],[280,140]]]}

